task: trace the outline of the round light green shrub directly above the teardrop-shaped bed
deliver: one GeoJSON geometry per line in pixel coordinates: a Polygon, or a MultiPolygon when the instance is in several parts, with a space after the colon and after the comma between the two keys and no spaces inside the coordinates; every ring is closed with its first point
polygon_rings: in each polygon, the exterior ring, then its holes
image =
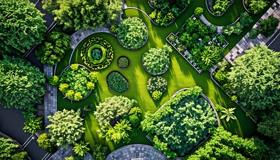
{"type": "Polygon", "coordinates": [[[143,54],[144,68],[153,75],[164,72],[169,68],[170,52],[172,52],[172,48],[168,45],[164,45],[162,49],[151,48],[143,54]]]}

